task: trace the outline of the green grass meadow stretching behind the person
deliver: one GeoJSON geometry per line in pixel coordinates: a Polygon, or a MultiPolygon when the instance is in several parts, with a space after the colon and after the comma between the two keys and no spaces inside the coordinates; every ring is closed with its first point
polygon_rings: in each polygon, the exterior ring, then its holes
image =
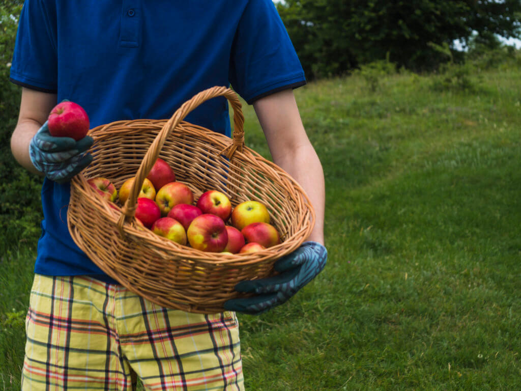
{"type": "MultiPolygon", "coordinates": [[[[289,303],[239,316],[247,390],[521,389],[521,71],[470,77],[295,90],[329,258],[289,303]]],[[[268,157],[243,108],[246,145],[268,157]]],[[[0,389],[19,389],[33,258],[26,245],[1,261],[0,389]]]]}

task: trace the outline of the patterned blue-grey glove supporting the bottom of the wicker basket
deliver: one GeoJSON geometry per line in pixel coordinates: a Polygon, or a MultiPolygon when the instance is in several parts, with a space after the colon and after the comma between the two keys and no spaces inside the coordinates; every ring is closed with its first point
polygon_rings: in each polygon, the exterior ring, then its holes
{"type": "Polygon", "coordinates": [[[224,308],[250,315],[257,315],[288,301],[304,285],[309,283],[326,265],[327,250],[320,243],[304,242],[291,254],[275,262],[278,275],[256,280],[241,281],[235,290],[253,293],[255,296],[230,299],[224,308]]]}

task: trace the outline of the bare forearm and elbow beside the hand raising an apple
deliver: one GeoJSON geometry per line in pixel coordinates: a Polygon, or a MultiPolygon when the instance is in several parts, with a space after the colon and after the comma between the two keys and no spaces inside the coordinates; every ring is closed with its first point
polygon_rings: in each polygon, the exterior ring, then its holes
{"type": "Polygon", "coordinates": [[[31,173],[44,174],[36,170],[29,157],[29,144],[38,129],[45,123],[53,107],[56,95],[22,88],[20,114],[15,131],[11,136],[11,152],[16,161],[31,173]]]}

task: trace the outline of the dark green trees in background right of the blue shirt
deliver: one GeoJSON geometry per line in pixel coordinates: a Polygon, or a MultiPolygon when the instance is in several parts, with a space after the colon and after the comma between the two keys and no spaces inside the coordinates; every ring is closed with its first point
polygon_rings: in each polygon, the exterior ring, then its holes
{"type": "Polygon", "coordinates": [[[477,32],[518,37],[519,0],[286,0],[277,4],[309,78],[339,75],[386,58],[411,70],[445,59],[431,44],[468,42],[477,32]],[[431,43],[431,44],[429,44],[431,43]]]}

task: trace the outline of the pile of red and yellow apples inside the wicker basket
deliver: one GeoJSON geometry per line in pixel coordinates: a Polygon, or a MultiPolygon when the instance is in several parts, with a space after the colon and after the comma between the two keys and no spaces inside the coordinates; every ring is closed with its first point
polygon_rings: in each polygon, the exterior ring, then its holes
{"type": "MultiPolygon", "coordinates": [[[[123,182],[119,193],[106,178],[88,182],[106,200],[123,205],[134,180],[132,177],[123,182]]],[[[280,243],[263,203],[250,200],[232,207],[226,194],[218,190],[207,190],[195,200],[192,190],[176,181],[172,168],[162,158],[156,160],[143,181],[135,217],[155,234],[201,251],[247,253],[280,243]]]]}

